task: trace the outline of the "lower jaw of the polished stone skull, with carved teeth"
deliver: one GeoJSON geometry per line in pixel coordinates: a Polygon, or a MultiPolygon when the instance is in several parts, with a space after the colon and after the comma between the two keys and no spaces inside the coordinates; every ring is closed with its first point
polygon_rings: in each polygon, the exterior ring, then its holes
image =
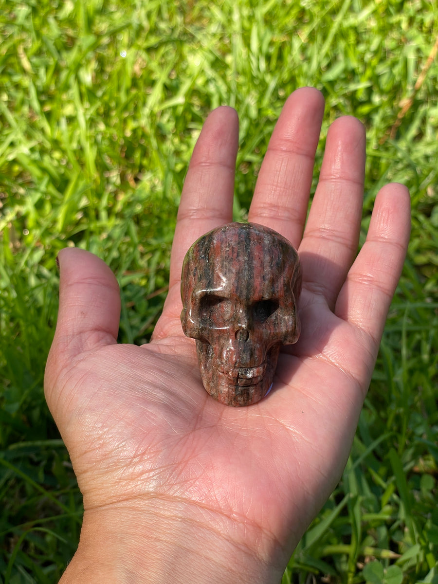
{"type": "MultiPolygon", "coordinates": [[[[220,404],[240,407],[256,404],[269,392],[277,367],[281,343],[269,347],[266,352],[265,368],[262,376],[253,379],[246,375],[239,377],[224,373],[224,367],[218,367],[210,343],[196,340],[196,352],[201,371],[201,379],[207,393],[220,404]],[[253,383],[252,383],[253,382],[253,383]]],[[[258,368],[259,363],[253,367],[258,368]]],[[[252,367],[245,368],[245,370],[252,367]]],[[[258,368],[259,369],[259,368],[258,368]]]]}

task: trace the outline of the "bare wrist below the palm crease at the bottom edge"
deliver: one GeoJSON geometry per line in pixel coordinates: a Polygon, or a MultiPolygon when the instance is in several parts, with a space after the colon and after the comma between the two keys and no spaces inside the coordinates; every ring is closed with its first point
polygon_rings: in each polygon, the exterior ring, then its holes
{"type": "Polygon", "coordinates": [[[146,510],[144,503],[86,510],[78,551],[60,584],[280,582],[283,564],[273,561],[263,534],[260,545],[253,537],[248,545],[242,530],[253,528],[208,509],[191,516],[190,505],[152,499],[146,510]]]}

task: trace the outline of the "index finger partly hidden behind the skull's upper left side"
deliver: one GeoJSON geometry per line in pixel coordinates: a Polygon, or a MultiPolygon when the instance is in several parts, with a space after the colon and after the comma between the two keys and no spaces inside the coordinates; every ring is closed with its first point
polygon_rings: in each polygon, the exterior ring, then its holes
{"type": "Polygon", "coordinates": [[[238,138],[234,109],[218,107],[207,117],[181,195],[171,255],[171,287],[180,280],[182,262],[190,245],[232,219],[238,138]]]}

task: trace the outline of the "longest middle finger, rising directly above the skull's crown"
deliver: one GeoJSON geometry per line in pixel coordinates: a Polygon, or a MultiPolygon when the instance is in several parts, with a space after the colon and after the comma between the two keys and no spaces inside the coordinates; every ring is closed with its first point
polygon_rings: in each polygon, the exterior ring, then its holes
{"type": "Polygon", "coordinates": [[[287,99],[257,179],[249,221],[267,225],[298,247],[312,184],[324,98],[314,88],[287,99]]]}

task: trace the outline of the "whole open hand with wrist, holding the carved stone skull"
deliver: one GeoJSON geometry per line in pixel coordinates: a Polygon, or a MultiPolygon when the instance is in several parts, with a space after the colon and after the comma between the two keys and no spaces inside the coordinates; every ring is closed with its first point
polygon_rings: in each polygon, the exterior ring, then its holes
{"type": "Polygon", "coordinates": [[[214,401],[180,324],[182,261],[232,219],[237,115],[210,114],[183,188],[169,294],[151,343],[118,345],[120,295],[91,253],[60,253],[60,310],[46,397],[84,496],[68,582],[278,582],[345,466],[409,238],[409,194],[378,193],[356,257],[364,128],[329,129],[307,210],[324,100],[294,92],[269,143],[249,221],[300,253],[301,337],[272,391],[245,408],[214,401]]]}

